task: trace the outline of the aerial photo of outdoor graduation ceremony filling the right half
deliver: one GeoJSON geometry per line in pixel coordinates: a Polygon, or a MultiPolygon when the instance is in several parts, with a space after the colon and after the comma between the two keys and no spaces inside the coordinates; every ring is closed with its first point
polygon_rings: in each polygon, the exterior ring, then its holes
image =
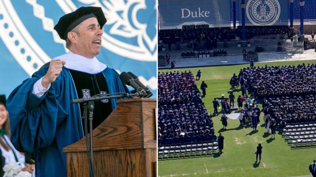
{"type": "Polygon", "coordinates": [[[315,0],[158,0],[158,176],[316,177],[315,0]]]}

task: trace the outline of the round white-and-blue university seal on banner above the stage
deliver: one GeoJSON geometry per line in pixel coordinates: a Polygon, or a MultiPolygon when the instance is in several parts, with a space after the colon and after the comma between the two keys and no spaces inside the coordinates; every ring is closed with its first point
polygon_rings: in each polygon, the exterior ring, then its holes
{"type": "Polygon", "coordinates": [[[249,0],[246,6],[247,17],[256,26],[275,24],[280,13],[278,0],[249,0]]]}

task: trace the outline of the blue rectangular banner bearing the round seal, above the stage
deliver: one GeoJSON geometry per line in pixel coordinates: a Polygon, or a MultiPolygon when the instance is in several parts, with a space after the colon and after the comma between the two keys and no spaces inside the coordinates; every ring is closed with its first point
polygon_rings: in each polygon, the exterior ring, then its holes
{"type": "MultiPolygon", "coordinates": [[[[246,26],[288,25],[288,0],[246,0],[245,3],[246,26]]],[[[241,22],[242,15],[239,17],[241,22]]]]}

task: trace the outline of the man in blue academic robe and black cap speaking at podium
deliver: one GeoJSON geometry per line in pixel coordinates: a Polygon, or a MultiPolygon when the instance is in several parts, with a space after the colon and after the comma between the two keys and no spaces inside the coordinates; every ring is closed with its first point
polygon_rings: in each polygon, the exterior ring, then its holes
{"type": "MultiPolygon", "coordinates": [[[[35,152],[37,177],[66,177],[62,148],[84,137],[83,105],[71,99],[129,92],[115,70],[95,58],[105,23],[99,7],[81,7],[61,17],[54,29],[70,52],[43,66],[8,97],[12,144],[35,152]]],[[[115,107],[116,99],[97,101],[93,128],[115,107]]]]}

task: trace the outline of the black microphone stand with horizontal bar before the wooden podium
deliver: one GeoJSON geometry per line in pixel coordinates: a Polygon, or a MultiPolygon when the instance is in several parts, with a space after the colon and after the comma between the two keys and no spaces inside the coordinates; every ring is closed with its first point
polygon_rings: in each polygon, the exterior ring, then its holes
{"type": "Polygon", "coordinates": [[[88,153],[88,162],[90,167],[90,177],[94,177],[94,166],[93,166],[93,110],[94,110],[94,101],[98,101],[101,99],[111,99],[111,98],[123,98],[129,97],[132,98],[133,96],[141,96],[143,93],[113,93],[113,94],[98,94],[93,97],[89,98],[79,98],[79,99],[72,99],[70,102],[72,104],[75,103],[83,103],[83,119],[85,122],[85,137],[86,137],[86,146],[87,146],[87,153],[88,153]],[[89,110],[89,140],[87,136],[88,132],[88,125],[87,125],[87,113],[89,110]]]}

